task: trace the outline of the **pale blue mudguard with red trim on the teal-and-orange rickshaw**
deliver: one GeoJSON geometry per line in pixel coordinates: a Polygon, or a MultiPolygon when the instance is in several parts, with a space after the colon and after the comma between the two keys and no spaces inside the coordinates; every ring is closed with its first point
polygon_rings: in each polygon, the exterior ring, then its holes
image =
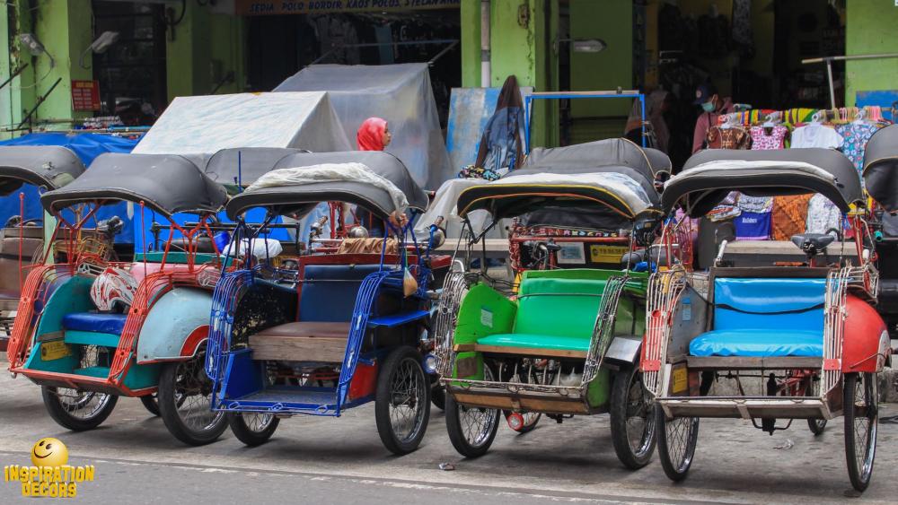
{"type": "Polygon", "coordinates": [[[211,292],[175,288],[165,293],[153,304],[137,335],[137,363],[192,356],[207,339],[211,312],[211,292]]]}

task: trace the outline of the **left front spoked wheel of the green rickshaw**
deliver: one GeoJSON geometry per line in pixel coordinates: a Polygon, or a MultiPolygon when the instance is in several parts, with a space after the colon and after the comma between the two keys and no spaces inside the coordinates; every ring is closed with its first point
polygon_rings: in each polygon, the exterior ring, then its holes
{"type": "MultiPolygon", "coordinates": [[[[483,379],[494,380],[489,366],[483,365],[483,379]]],[[[469,407],[455,402],[446,393],[446,431],[455,450],[464,457],[480,457],[487,453],[496,438],[499,409],[469,407]]]]}

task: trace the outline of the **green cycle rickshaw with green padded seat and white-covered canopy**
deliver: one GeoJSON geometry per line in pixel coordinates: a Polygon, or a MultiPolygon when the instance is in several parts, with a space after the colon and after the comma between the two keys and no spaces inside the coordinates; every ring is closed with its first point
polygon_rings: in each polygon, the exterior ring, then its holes
{"type": "MultiPolygon", "coordinates": [[[[463,190],[458,215],[487,210],[495,224],[521,215],[557,222],[577,213],[590,218],[578,226],[588,229],[592,222],[597,231],[620,233],[629,250],[647,245],[660,217],[651,173],[607,152],[604,166],[600,157],[566,162],[565,149],[552,150],[548,161],[532,155],[521,169],[463,190]]],[[[467,244],[468,254],[481,238],[467,244]]],[[[545,246],[549,239],[543,240],[545,246]]],[[[513,430],[526,432],[542,414],[562,422],[610,413],[621,462],[632,469],[647,465],[655,428],[637,364],[647,273],[634,272],[634,257],[622,256],[623,270],[621,263],[526,270],[517,286],[503,286],[485,271],[448,274],[434,357],[449,438],[462,456],[485,454],[503,416],[513,430]]]]}

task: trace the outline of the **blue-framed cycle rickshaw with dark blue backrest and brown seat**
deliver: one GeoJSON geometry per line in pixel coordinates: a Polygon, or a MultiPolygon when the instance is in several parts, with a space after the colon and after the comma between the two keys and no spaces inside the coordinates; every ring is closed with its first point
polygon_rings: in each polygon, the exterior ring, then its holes
{"type": "MultiPolygon", "coordinates": [[[[384,236],[340,239],[324,254],[270,258],[223,275],[209,323],[212,407],[252,446],[269,440],[281,418],[339,417],[373,401],[383,445],[409,453],[430,413],[420,353],[427,286],[432,271],[449,264],[414,239],[427,194],[385,152],[298,153],[278,166],[228,202],[228,217],[264,208],[267,222],[299,219],[321,202],[345,202],[374,214],[384,236]]],[[[258,240],[266,225],[242,222],[235,235],[258,240]]]]}

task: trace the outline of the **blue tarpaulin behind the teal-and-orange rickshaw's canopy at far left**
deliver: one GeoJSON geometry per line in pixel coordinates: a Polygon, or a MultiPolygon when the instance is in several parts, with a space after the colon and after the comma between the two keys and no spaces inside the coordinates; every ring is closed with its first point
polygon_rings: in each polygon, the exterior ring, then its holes
{"type": "MultiPolygon", "coordinates": [[[[94,158],[103,152],[131,152],[137,144],[136,140],[102,135],[102,134],[29,134],[12,140],[0,141],[0,145],[61,145],[71,149],[81,159],[85,167],[89,167],[94,158]]],[[[19,215],[19,194],[25,196],[25,219],[43,219],[43,210],[40,207],[38,188],[24,185],[20,191],[10,196],[0,197],[0,225],[13,215],[19,215]]],[[[108,205],[97,212],[97,220],[107,219],[118,215],[125,222],[125,229],[116,238],[116,242],[133,243],[133,220],[128,218],[128,207],[121,203],[108,205]]]]}

